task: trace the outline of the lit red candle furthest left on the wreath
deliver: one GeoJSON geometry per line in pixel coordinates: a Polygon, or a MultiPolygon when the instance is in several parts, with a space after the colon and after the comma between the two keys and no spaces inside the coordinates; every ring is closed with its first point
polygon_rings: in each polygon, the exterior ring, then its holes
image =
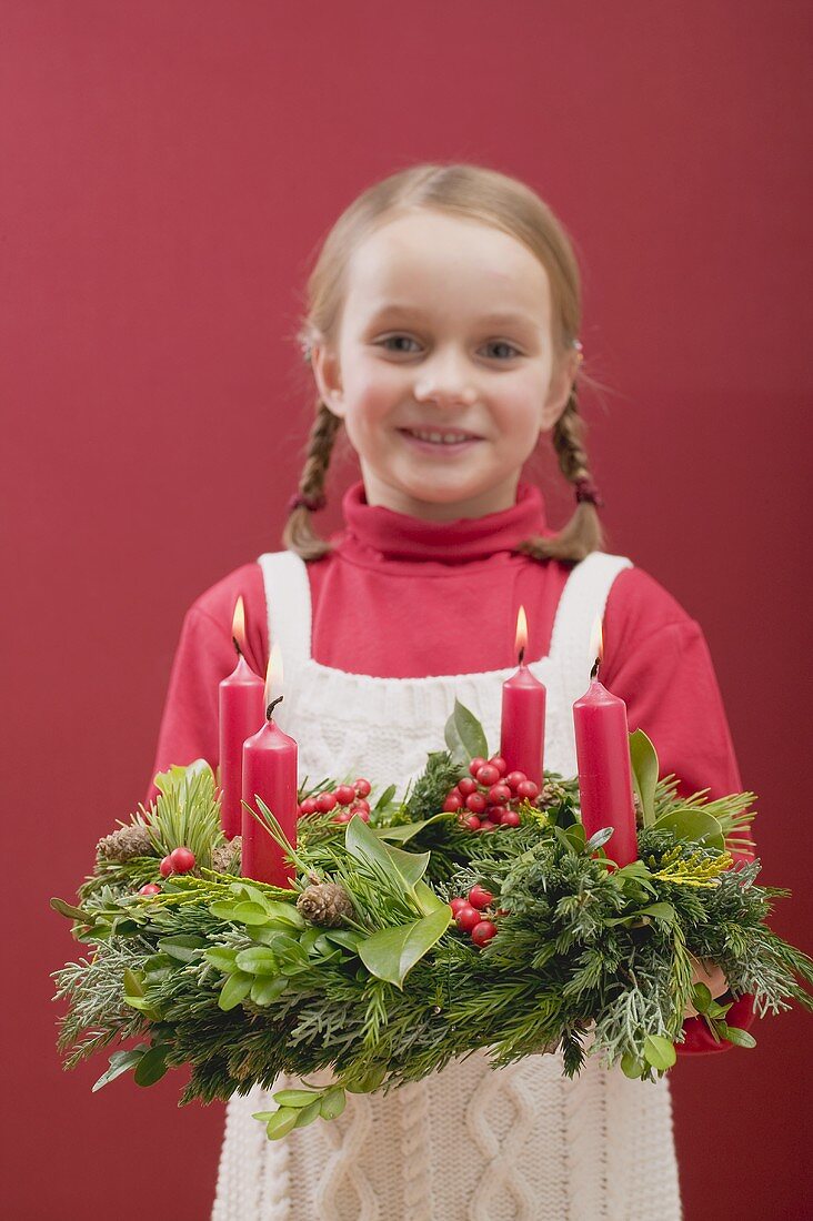
{"type": "Polygon", "coordinates": [[[226,839],[240,834],[243,810],[243,742],[263,724],[263,680],[243,657],[246,612],[242,595],[235,604],[231,639],[237,650],[237,664],[219,689],[220,705],[220,824],[226,839]]]}

